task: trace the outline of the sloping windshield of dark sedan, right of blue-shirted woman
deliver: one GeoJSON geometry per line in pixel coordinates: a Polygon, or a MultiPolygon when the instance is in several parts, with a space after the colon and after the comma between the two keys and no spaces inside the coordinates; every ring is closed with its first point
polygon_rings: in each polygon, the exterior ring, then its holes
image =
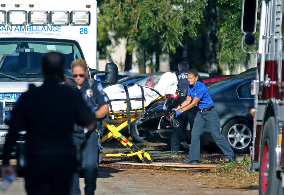
{"type": "Polygon", "coordinates": [[[208,83],[207,87],[210,96],[214,96],[216,93],[238,83],[244,77],[231,77],[217,82],[208,83]]]}

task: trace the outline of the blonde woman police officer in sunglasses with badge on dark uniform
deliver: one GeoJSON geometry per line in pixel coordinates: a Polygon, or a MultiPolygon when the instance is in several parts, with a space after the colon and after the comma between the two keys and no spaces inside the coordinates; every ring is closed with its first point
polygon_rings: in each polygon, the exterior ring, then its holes
{"type": "MultiPolygon", "coordinates": [[[[91,107],[96,118],[100,120],[109,113],[108,97],[98,82],[90,85],[87,80],[88,69],[84,60],[74,60],[71,64],[71,72],[74,77],[72,83],[76,90],[79,90],[86,104],[91,107]]],[[[99,128],[99,126],[98,126],[99,128]]],[[[84,192],[86,195],[94,195],[96,190],[96,178],[98,176],[98,133],[99,130],[91,133],[84,133],[84,128],[79,126],[73,138],[77,145],[81,145],[82,173],[85,179],[84,192]]],[[[80,195],[79,187],[80,173],[76,172],[73,178],[71,195],[80,195]]]]}

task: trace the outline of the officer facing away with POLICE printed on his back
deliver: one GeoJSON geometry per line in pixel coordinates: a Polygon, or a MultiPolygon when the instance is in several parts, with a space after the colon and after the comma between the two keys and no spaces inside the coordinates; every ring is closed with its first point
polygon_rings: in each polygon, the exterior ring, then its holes
{"type": "MultiPolygon", "coordinates": [[[[186,100],[187,88],[188,88],[188,80],[187,73],[189,71],[189,66],[186,62],[180,62],[178,64],[178,72],[176,72],[176,76],[178,78],[178,92],[179,96],[177,98],[177,104],[180,105],[182,102],[186,100]]],[[[184,123],[187,121],[186,112],[182,113],[178,116],[177,121],[180,123],[178,127],[173,127],[173,134],[171,136],[171,154],[178,155],[180,150],[180,145],[182,143],[182,130],[184,127],[184,123]]]]}

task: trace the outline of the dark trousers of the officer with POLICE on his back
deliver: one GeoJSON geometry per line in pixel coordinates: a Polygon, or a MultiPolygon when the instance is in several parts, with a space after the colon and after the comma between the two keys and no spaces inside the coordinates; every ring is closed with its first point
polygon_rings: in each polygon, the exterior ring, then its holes
{"type": "Polygon", "coordinates": [[[180,123],[178,127],[173,127],[173,134],[171,135],[171,151],[179,151],[182,143],[182,131],[184,122],[187,121],[186,112],[178,116],[177,121],[180,123]]]}

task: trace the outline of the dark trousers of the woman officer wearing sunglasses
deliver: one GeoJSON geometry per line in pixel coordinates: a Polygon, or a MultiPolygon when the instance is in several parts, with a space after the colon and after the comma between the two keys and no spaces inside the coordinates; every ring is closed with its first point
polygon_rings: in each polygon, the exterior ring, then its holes
{"type": "MultiPolygon", "coordinates": [[[[85,180],[85,195],[94,195],[98,176],[98,133],[93,131],[92,133],[87,133],[84,138],[74,136],[73,138],[76,144],[82,145],[82,173],[85,180]]],[[[79,177],[80,173],[75,172],[71,195],[81,195],[79,177]]]]}

